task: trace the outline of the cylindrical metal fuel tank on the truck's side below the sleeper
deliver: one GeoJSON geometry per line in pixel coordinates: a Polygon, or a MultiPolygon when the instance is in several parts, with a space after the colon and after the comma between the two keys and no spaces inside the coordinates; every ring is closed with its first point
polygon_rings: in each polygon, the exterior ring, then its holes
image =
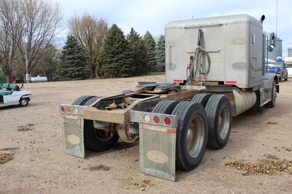
{"type": "Polygon", "coordinates": [[[235,117],[244,111],[250,109],[256,104],[256,93],[254,91],[233,90],[236,113],[232,114],[235,117]]]}

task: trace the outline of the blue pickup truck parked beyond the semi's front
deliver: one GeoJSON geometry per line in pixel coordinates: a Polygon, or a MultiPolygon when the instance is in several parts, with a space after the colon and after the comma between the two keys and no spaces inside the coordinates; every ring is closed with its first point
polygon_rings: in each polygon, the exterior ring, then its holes
{"type": "MultiPolygon", "coordinates": [[[[265,72],[267,73],[267,68],[265,68],[265,72]]],[[[288,70],[281,61],[279,62],[268,61],[268,73],[276,73],[279,78],[279,82],[283,82],[283,79],[285,81],[288,81],[288,70]]]]}

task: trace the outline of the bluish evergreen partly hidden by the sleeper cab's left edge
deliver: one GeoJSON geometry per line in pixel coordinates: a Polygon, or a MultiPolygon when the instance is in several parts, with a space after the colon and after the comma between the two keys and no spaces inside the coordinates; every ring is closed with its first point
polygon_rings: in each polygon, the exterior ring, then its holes
{"type": "Polygon", "coordinates": [[[157,71],[165,71],[165,40],[164,35],[158,39],[157,47],[155,48],[155,59],[157,61],[157,71]]]}

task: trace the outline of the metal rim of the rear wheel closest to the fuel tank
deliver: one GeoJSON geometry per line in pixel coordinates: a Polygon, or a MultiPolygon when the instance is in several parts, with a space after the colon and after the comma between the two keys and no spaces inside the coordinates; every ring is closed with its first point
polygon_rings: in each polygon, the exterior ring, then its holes
{"type": "Polygon", "coordinates": [[[224,139],[228,133],[230,126],[230,110],[227,105],[223,106],[220,111],[218,129],[219,135],[222,139],[224,139]]]}

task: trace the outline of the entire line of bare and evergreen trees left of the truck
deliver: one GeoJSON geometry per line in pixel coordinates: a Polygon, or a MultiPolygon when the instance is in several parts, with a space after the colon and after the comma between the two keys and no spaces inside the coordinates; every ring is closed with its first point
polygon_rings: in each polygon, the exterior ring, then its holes
{"type": "Polygon", "coordinates": [[[129,77],[163,71],[164,36],[157,44],[149,31],[142,37],[131,28],[124,32],[98,15],[75,14],[68,21],[68,36],[62,50],[64,30],[62,5],[48,0],[0,0],[0,63],[6,82],[30,76],[50,81],[129,77]]]}

